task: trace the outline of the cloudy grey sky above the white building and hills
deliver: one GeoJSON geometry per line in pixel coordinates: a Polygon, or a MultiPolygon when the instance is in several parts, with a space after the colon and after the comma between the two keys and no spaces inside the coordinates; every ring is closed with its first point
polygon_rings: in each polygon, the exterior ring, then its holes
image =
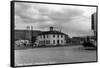
{"type": "Polygon", "coordinates": [[[33,26],[33,30],[47,31],[53,26],[70,37],[89,36],[95,12],[96,7],[16,2],[15,29],[33,26]]]}

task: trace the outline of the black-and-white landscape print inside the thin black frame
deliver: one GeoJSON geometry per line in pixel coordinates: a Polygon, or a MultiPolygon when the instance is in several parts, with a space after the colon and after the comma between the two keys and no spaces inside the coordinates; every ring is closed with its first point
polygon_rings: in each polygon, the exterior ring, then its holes
{"type": "Polygon", "coordinates": [[[14,66],[97,62],[97,6],[13,5],[14,66]]]}

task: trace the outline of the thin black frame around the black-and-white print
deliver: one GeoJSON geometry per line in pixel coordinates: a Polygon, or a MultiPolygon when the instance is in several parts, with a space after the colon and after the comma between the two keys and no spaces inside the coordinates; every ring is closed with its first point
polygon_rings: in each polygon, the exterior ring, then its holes
{"type": "Polygon", "coordinates": [[[61,65],[61,64],[80,64],[80,63],[92,63],[92,62],[98,62],[98,5],[83,5],[83,4],[65,4],[65,3],[53,3],[53,2],[37,2],[37,1],[10,1],[10,66],[11,67],[30,67],[30,66],[47,66],[47,65],[61,65]],[[86,7],[96,7],[96,16],[97,16],[97,49],[96,49],[96,61],[86,61],[86,62],[70,62],[70,63],[54,63],[54,64],[40,64],[40,65],[23,65],[23,66],[15,66],[15,56],[14,56],[14,36],[15,36],[15,31],[14,31],[14,6],[15,2],[23,2],[23,3],[40,3],[40,4],[55,4],[55,5],[73,5],[73,6],[86,6],[86,7]]]}

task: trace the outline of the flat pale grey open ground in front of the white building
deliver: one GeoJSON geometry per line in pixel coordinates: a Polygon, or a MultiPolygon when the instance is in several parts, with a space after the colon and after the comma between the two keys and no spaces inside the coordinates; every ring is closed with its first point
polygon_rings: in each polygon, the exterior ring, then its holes
{"type": "Polygon", "coordinates": [[[15,65],[38,65],[96,61],[96,50],[81,45],[15,50],[15,65]]]}

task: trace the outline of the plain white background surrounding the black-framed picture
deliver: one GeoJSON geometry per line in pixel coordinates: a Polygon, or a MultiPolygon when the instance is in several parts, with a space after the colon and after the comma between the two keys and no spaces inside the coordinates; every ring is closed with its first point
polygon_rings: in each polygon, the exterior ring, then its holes
{"type": "MultiPolygon", "coordinates": [[[[99,5],[100,7],[100,0],[32,0],[32,1],[41,1],[41,2],[46,1],[46,2],[88,4],[88,5],[94,4],[94,5],[99,5]]],[[[100,16],[100,13],[98,16],[100,16]]],[[[100,23],[98,23],[98,25],[100,26],[100,23]]],[[[100,29],[100,27],[98,28],[100,29]]],[[[98,37],[100,41],[100,31],[98,37]]],[[[100,46],[98,52],[100,52],[100,46]]],[[[11,68],[10,67],[10,0],[0,0],[0,68],[11,68]]],[[[25,68],[33,68],[33,67],[25,67],[25,68]]],[[[99,53],[98,63],[38,66],[34,68],[100,68],[100,53],[99,53]]]]}

